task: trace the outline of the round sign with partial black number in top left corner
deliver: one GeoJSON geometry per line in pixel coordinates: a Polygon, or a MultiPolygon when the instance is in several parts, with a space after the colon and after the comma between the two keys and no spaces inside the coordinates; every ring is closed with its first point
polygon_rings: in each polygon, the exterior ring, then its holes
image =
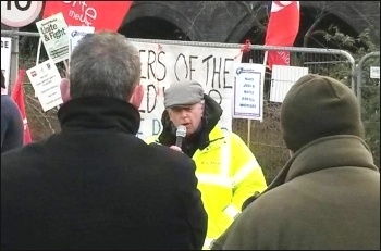
{"type": "Polygon", "coordinates": [[[1,23],[23,27],[34,22],[42,10],[42,1],[1,1],[1,23]]]}

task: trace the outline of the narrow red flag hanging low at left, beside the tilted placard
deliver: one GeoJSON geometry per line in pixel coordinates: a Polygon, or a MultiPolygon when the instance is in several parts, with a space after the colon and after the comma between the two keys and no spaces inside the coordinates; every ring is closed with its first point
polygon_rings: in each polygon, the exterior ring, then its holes
{"type": "Polygon", "coordinates": [[[24,101],[24,90],[23,90],[23,79],[25,76],[25,70],[19,71],[19,76],[16,78],[16,81],[14,83],[11,97],[16,102],[21,115],[23,116],[24,122],[24,145],[27,145],[32,142],[30,131],[28,127],[28,122],[26,120],[26,112],[25,112],[25,101],[24,101]]]}

